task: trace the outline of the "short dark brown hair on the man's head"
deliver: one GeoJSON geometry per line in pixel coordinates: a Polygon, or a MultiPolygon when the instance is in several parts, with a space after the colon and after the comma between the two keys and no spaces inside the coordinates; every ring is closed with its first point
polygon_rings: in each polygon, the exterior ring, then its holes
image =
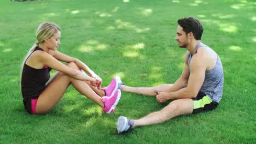
{"type": "Polygon", "coordinates": [[[191,32],[196,40],[201,40],[203,26],[199,20],[196,20],[193,17],[184,17],[183,19],[178,20],[178,24],[183,28],[183,31],[186,34],[191,32]]]}

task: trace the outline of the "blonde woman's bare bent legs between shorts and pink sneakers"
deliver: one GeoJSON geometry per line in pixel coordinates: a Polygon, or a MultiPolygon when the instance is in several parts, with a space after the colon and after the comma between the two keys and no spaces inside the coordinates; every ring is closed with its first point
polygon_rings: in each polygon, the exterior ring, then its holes
{"type": "MultiPolygon", "coordinates": [[[[74,69],[79,69],[73,62],[68,63],[67,66],[74,69]]],[[[44,89],[43,93],[39,95],[37,100],[36,113],[41,114],[51,110],[60,101],[70,83],[72,83],[78,92],[85,95],[85,97],[91,99],[101,107],[104,107],[104,103],[102,102],[101,97],[90,88],[88,83],[85,81],[73,79],[72,77],[59,72],[56,74],[53,80],[47,83],[47,87],[44,89]]]]}

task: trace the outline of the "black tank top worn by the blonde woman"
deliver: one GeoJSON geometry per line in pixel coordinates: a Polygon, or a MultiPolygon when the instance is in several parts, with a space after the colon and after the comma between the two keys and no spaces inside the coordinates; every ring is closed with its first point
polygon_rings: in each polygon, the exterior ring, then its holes
{"type": "MultiPolygon", "coordinates": [[[[40,47],[36,47],[34,51],[44,50],[40,47]]],[[[50,71],[51,68],[47,66],[44,66],[43,69],[34,69],[28,66],[25,62],[21,78],[21,93],[23,98],[38,98],[44,91],[46,82],[50,79],[50,71]]]]}

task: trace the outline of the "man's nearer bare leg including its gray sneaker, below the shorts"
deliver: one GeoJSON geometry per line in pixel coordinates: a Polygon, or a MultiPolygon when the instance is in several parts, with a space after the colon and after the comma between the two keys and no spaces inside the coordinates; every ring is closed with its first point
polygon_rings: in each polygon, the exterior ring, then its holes
{"type": "Polygon", "coordinates": [[[173,117],[190,114],[193,112],[194,103],[192,99],[178,99],[172,101],[164,109],[150,113],[149,115],[132,120],[119,117],[117,123],[118,133],[123,133],[135,127],[165,122],[173,117]]]}

